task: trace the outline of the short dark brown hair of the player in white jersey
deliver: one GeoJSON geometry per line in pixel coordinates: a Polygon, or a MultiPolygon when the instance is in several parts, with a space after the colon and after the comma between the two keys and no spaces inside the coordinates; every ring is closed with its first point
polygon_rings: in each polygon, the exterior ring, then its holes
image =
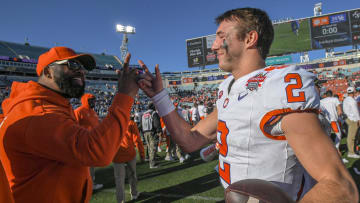
{"type": "Polygon", "coordinates": [[[215,19],[217,25],[223,21],[239,22],[238,38],[244,40],[247,33],[255,30],[258,33],[257,49],[265,60],[274,39],[274,28],[265,11],[257,8],[237,8],[226,11],[215,19]]]}

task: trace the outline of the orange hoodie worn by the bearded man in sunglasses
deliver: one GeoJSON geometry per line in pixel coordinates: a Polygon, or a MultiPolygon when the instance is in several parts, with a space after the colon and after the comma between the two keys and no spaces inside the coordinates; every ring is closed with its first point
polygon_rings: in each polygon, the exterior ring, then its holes
{"type": "Polygon", "coordinates": [[[13,82],[4,100],[0,158],[15,202],[89,202],[89,166],[106,166],[127,130],[130,96],[117,94],[93,130],[78,125],[69,101],[37,82],[13,82]]]}

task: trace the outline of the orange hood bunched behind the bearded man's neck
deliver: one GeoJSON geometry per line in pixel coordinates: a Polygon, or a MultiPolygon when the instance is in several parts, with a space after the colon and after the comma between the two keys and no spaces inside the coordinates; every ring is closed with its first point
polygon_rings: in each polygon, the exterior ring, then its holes
{"type": "Polygon", "coordinates": [[[49,103],[63,106],[65,108],[71,107],[69,100],[65,97],[37,82],[13,82],[9,98],[5,99],[2,103],[4,116],[9,114],[16,105],[28,100],[45,100],[49,103]]]}

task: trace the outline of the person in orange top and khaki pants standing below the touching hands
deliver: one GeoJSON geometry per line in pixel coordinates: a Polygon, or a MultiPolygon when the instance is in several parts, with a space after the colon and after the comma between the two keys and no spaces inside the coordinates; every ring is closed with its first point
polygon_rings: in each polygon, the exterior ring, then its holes
{"type": "Polygon", "coordinates": [[[130,185],[131,200],[137,199],[140,195],[140,192],[137,190],[135,145],[138,148],[141,162],[144,162],[144,145],[141,141],[139,129],[134,122],[134,116],[132,115],[126,136],[123,136],[121,139],[120,148],[113,159],[116,199],[118,203],[125,201],[125,170],[127,171],[130,185]]]}

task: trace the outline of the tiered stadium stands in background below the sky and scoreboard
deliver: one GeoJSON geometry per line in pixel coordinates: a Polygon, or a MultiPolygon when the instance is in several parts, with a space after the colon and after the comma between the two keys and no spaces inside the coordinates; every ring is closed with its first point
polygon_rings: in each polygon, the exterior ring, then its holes
{"type": "MultiPolygon", "coordinates": [[[[0,87],[10,85],[12,81],[36,80],[36,59],[49,48],[0,41],[0,87]]],[[[121,61],[117,56],[92,54],[97,63],[97,69],[91,71],[87,77],[88,92],[100,97],[98,107],[100,116],[105,116],[107,105],[115,93],[116,75],[114,69],[121,67],[121,61]]],[[[343,53],[335,53],[332,57],[316,59],[297,65],[314,72],[320,79],[327,80],[324,84],[326,89],[332,90],[340,98],[345,94],[348,85],[360,88],[360,52],[351,50],[343,53]]],[[[163,84],[173,96],[175,102],[184,102],[192,105],[195,101],[215,103],[216,89],[228,73],[219,68],[163,72],[163,84]]],[[[6,93],[4,93],[6,94],[6,93]]],[[[4,95],[2,94],[2,95],[4,95]]],[[[0,95],[1,96],[1,95],[0,95]]],[[[146,97],[140,92],[137,106],[142,108],[146,104],[146,97]],[[140,101],[144,99],[144,102],[140,101]]],[[[74,105],[79,102],[74,101],[74,105]]]]}

